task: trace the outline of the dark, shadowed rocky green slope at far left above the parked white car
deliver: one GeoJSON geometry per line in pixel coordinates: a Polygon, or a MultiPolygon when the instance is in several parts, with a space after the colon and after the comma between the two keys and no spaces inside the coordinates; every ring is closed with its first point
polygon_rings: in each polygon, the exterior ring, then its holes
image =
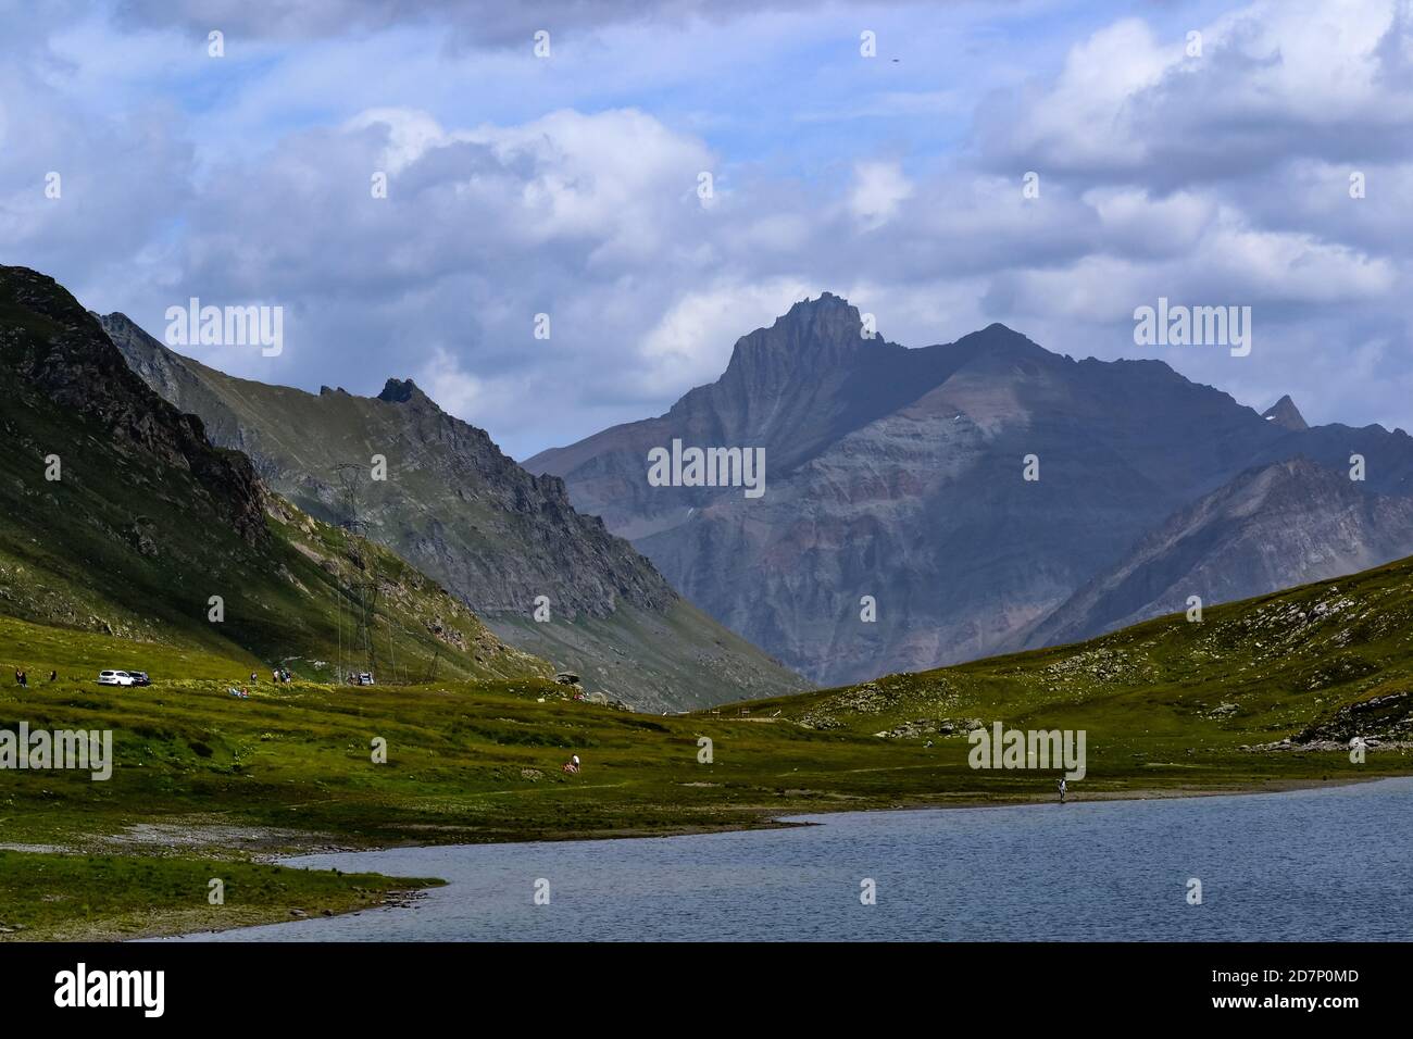
{"type": "Polygon", "coordinates": [[[349,602],[376,573],[374,653],[398,659],[384,680],[434,657],[444,676],[552,676],[391,553],[271,495],[23,267],[0,267],[0,612],[333,679],[349,602]]]}

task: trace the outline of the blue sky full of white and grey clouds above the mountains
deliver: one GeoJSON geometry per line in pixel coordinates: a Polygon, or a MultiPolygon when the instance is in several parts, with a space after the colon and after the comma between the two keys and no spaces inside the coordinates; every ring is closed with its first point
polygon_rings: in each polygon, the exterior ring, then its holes
{"type": "Polygon", "coordinates": [[[506,7],[0,0],[0,263],[158,338],[283,307],[280,356],[187,352],[411,376],[519,458],[822,290],[1413,428],[1413,0],[506,7]],[[1136,346],[1160,295],[1252,307],[1251,355],[1136,346]]]}

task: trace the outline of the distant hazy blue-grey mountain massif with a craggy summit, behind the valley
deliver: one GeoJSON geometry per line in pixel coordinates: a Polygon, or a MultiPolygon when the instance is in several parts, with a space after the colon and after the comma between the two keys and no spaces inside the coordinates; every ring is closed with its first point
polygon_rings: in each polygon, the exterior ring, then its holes
{"type": "Polygon", "coordinates": [[[999,324],[910,349],[828,293],[739,339],[666,414],[526,468],[822,684],[1413,551],[1402,430],[1308,427],[1289,397],[1262,416],[1161,360],[1075,360],[999,324]],[[653,485],[649,452],[674,441],[763,448],[766,493],[653,485]]]}

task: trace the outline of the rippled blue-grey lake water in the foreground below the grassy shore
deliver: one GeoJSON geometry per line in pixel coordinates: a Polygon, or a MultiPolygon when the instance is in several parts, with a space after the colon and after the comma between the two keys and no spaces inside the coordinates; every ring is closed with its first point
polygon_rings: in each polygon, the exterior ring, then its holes
{"type": "Polygon", "coordinates": [[[288,864],[449,884],[188,940],[1413,939],[1413,779],[801,818],[815,826],[311,855],[288,864]]]}

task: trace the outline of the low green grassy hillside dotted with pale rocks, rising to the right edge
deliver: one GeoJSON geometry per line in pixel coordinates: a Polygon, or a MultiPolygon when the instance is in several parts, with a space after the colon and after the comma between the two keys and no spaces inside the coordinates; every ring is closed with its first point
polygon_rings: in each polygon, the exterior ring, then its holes
{"type": "MultiPolygon", "coordinates": [[[[1088,728],[1091,755],[1194,768],[1290,739],[1413,739],[1413,560],[1089,642],[771,701],[836,732],[927,738],[968,720],[1088,728]],[[910,736],[900,736],[906,729],[910,736]]],[[[1102,775],[1102,770],[1101,770],[1102,775]]]]}

